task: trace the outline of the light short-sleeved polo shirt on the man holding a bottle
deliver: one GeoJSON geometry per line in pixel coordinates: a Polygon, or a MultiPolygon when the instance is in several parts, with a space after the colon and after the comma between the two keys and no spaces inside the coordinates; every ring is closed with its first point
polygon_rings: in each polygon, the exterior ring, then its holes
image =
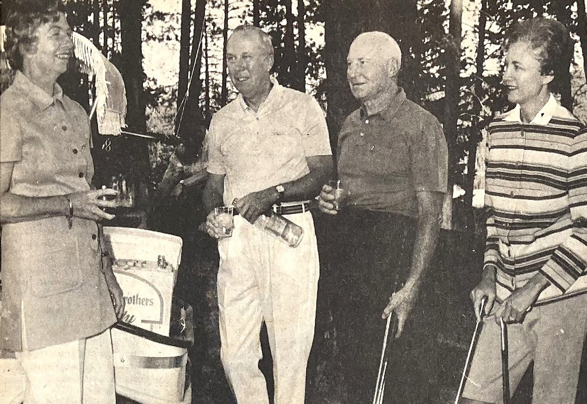
{"type": "Polygon", "coordinates": [[[210,123],[208,172],[225,175],[226,205],[308,174],[308,156],[332,154],[318,102],[271,81],[273,88],[257,112],[239,94],[210,123]]]}

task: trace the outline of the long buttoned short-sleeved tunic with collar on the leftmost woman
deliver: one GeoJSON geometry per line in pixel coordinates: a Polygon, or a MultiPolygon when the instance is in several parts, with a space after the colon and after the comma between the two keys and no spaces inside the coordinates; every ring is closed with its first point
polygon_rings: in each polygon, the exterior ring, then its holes
{"type": "MultiPolygon", "coordinates": [[[[10,193],[39,197],[90,189],[87,114],[58,85],[54,94],[17,72],[0,96],[0,161],[14,163],[10,193]]],[[[72,224],[55,216],[2,225],[0,350],[58,345],[116,322],[96,222],[76,217],[72,224]]]]}

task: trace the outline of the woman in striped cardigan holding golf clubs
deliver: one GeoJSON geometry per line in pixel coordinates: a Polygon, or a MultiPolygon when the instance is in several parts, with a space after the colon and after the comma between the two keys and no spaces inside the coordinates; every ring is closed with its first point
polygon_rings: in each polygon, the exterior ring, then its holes
{"type": "Polygon", "coordinates": [[[510,390],[533,361],[532,402],[571,404],[587,320],[587,131],[552,92],[572,42],[559,22],[534,18],[506,46],[503,84],[516,106],[487,128],[487,243],[471,292],[485,322],[463,396],[502,402],[503,320],[510,390]]]}

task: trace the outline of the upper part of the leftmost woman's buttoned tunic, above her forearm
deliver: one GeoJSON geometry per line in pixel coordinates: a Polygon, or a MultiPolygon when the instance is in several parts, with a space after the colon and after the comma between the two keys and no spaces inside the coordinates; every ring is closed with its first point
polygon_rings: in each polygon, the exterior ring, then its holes
{"type": "Polygon", "coordinates": [[[58,85],[49,96],[21,72],[12,86],[26,96],[0,119],[0,161],[15,163],[10,192],[55,196],[89,190],[94,169],[86,112],[58,85]]]}

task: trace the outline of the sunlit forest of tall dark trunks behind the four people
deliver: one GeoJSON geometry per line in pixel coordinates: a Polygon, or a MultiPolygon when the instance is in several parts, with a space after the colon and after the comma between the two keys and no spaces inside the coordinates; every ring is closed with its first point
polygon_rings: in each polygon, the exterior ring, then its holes
{"type": "MultiPolygon", "coordinates": [[[[544,15],[568,26],[575,52],[560,98],[587,122],[583,0],[69,0],[67,6],[75,31],[123,75],[127,132],[152,137],[96,134],[96,171],[127,173],[146,192],[160,180],[174,146],[188,138],[201,143],[212,114],[234,98],[225,44],[240,24],[271,34],[278,81],[321,102],[333,148],[342,120],[357,106],[346,83],[350,42],[375,30],[396,38],[404,55],[400,85],[444,126],[449,186],[465,191],[453,215],[458,227],[473,218],[471,174],[481,128],[508,108],[500,45],[515,21],[544,15]]],[[[70,69],[62,83],[89,111],[93,83],[87,76],[70,69]]]]}

